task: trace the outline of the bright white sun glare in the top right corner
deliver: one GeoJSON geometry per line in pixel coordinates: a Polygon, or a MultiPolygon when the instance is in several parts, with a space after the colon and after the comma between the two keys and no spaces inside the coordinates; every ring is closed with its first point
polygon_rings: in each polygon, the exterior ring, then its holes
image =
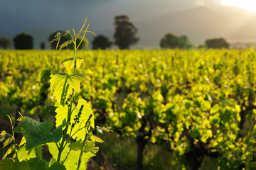
{"type": "Polygon", "coordinates": [[[235,6],[238,8],[246,8],[250,11],[256,11],[256,1],[255,0],[223,0],[221,4],[225,6],[235,6]]]}

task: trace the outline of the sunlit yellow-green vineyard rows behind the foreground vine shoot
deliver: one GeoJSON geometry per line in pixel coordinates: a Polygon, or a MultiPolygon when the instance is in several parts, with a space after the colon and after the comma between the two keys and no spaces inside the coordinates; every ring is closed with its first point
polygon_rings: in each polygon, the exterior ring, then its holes
{"type": "MultiPolygon", "coordinates": [[[[255,54],[80,50],[85,80],[74,96],[90,105],[95,125],[134,139],[137,167],[123,169],[143,169],[147,145],[164,147],[176,169],[200,169],[206,159],[219,169],[256,169],[255,54]]],[[[55,123],[50,75],[64,72],[70,56],[71,50],[0,51],[0,130],[10,131],[6,114],[14,121],[18,112],[55,123]]]]}

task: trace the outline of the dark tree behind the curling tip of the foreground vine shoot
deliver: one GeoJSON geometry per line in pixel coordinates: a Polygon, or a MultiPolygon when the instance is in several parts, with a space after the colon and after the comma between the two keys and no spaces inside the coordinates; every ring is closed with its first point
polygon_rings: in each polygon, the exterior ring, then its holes
{"type": "MultiPolygon", "coordinates": [[[[55,35],[56,35],[57,33],[64,33],[64,32],[65,32],[65,31],[63,31],[63,30],[55,31],[54,33],[50,34],[50,36],[49,36],[49,38],[48,38],[48,41],[50,42],[51,40],[53,40],[53,39],[55,38],[55,35]]],[[[70,37],[70,35],[65,35],[65,36],[61,37],[61,38],[60,38],[59,45],[63,44],[63,42],[66,42],[67,40],[72,40],[72,38],[70,37]]],[[[76,41],[77,44],[79,44],[81,40],[82,40],[82,38],[78,37],[78,39],[77,39],[77,41],[76,41]]],[[[84,38],[84,39],[82,40],[81,45],[79,46],[78,49],[80,49],[80,50],[81,50],[81,49],[86,49],[86,48],[88,47],[88,44],[89,44],[88,40],[87,40],[86,38],[84,38]]],[[[56,42],[56,41],[50,43],[50,47],[51,47],[52,49],[56,49],[56,45],[57,45],[57,42],[56,42]]],[[[72,49],[73,49],[73,45],[70,44],[70,45],[68,45],[68,47],[63,47],[63,49],[70,49],[70,50],[72,50],[72,49]]]]}

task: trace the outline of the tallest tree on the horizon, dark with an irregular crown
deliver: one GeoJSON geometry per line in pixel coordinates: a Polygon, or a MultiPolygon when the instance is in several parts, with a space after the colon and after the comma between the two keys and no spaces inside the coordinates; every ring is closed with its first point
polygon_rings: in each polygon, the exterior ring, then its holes
{"type": "Polygon", "coordinates": [[[129,49],[130,45],[134,45],[139,41],[135,35],[137,28],[129,21],[128,16],[116,16],[114,18],[114,43],[120,49],[129,49]]]}

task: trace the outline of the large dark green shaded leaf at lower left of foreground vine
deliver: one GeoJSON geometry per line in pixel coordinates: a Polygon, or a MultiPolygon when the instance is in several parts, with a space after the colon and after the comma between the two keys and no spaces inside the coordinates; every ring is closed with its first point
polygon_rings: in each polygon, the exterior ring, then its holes
{"type": "Polygon", "coordinates": [[[58,142],[62,137],[62,126],[51,132],[52,123],[40,123],[28,117],[23,117],[20,121],[21,124],[14,129],[14,132],[23,133],[26,138],[26,150],[46,142],[58,142]]]}

